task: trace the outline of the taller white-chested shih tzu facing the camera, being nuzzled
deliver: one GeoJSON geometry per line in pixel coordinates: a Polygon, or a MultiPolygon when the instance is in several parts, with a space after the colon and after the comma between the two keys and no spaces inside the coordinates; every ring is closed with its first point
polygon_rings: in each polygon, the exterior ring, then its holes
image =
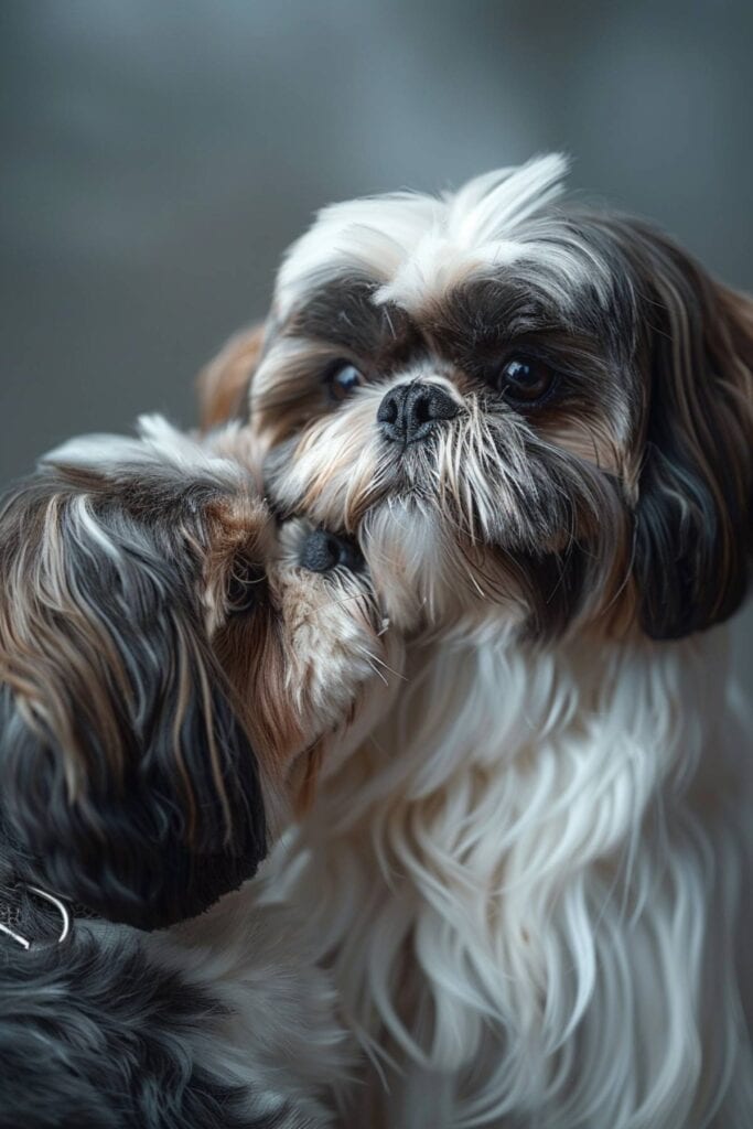
{"type": "Polygon", "coordinates": [[[279,863],[359,1126],[753,1123],[753,305],[564,172],[325,209],[204,376],[411,639],[279,863]]]}

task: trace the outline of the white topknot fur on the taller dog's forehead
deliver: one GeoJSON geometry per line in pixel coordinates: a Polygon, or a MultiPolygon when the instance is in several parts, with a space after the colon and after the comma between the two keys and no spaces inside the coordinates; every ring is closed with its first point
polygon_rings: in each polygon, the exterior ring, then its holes
{"type": "Polygon", "coordinates": [[[441,196],[394,192],[331,204],[289,250],[275,314],[284,321],[312,290],[361,274],[378,303],[411,308],[476,269],[513,263],[529,239],[520,228],[563,191],[561,154],[484,173],[441,196]]]}

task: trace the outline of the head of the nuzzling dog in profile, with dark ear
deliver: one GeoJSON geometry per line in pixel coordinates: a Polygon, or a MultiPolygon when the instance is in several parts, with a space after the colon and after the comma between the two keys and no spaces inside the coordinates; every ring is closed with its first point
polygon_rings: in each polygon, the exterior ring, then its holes
{"type": "Polygon", "coordinates": [[[0,510],[0,830],[112,920],[255,870],[286,790],[356,726],[384,650],[365,571],[260,500],[247,437],[75,440],[0,510]]]}

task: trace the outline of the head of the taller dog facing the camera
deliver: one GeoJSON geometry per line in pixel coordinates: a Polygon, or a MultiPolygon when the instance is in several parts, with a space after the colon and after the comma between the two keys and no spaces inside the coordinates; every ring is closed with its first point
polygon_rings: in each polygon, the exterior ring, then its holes
{"type": "Polygon", "coordinates": [[[360,531],[403,623],[726,619],[751,555],[753,307],[545,157],[326,209],[251,384],[282,510],[360,531]]]}

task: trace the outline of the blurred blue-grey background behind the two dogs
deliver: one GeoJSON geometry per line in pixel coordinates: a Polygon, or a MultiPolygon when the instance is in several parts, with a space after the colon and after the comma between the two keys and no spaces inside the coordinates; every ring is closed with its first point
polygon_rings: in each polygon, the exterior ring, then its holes
{"type": "Polygon", "coordinates": [[[751,0],[0,0],[0,482],[191,423],[331,200],[566,149],[753,289],[752,47],[751,0]]]}

